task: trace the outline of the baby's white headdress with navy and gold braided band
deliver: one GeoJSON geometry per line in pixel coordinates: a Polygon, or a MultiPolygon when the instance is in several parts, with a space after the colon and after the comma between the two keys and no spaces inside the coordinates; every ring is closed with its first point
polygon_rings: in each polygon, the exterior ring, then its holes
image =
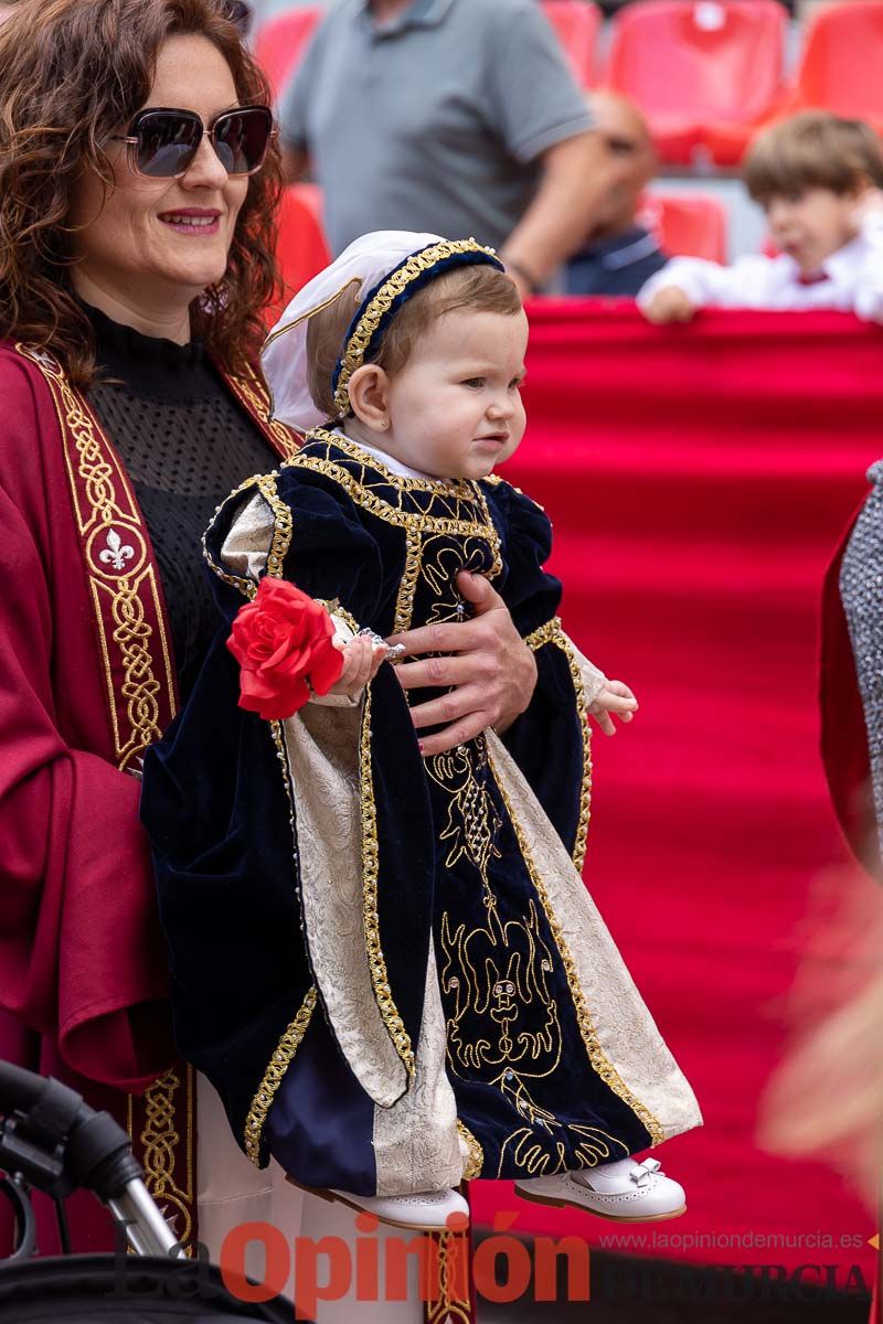
{"type": "Polygon", "coordinates": [[[261,365],[270,388],[273,418],[308,432],[326,422],[310,396],[307,326],[310,318],[357,286],[359,307],[352,319],[334,376],[339,417],[348,412],[347,385],[361,363],[376,352],[384,328],[406,299],[451,266],[485,262],[503,270],[492,249],[475,240],[445,240],[413,230],[363,234],[324,271],[295,294],[263,343],[261,365]]]}

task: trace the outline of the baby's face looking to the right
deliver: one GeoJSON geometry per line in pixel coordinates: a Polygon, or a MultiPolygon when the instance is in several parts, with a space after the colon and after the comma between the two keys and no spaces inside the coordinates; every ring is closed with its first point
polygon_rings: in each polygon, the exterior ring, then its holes
{"type": "Polygon", "coordinates": [[[436,478],[485,478],[524,436],[526,350],[523,310],[437,318],[389,383],[377,445],[436,478]]]}

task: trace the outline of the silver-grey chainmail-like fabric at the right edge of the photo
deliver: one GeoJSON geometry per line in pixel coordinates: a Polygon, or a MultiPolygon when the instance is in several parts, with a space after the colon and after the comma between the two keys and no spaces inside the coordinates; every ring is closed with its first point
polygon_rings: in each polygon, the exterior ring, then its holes
{"type": "Polygon", "coordinates": [[[841,564],[841,600],[855,655],[874,784],[874,814],[883,850],[883,459],[841,564]]]}

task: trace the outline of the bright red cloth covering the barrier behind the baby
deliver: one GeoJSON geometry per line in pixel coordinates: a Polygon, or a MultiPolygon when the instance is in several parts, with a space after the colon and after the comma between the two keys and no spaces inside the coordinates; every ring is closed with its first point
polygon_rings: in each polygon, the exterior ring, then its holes
{"type": "MultiPolygon", "coordinates": [[[[870,1287],[874,1214],[755,1131],[814,883],[847,858],[818,752],[818,612],[883,454],[883,330],[834,312],[655,328],[627,305],[530,311],[528,432],[503,474],[552,518],[567,629],[641,700],[630,728],[594,736],[585,878],[706,1125],[658,1151],[687,1189],[676,1222],[617,1229],[490,1184],[475,1219],[518,1210],[518,1231],[626,1254],[835,1264],[841,1287],[858,1264],[870,1287]]],[[[849,1090],[835,1062],[831,1088],[849,1090]]]]}

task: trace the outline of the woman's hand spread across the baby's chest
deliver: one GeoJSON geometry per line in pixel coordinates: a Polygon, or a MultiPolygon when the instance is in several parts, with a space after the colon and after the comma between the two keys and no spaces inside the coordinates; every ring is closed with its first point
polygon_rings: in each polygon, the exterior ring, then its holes
{"type": "Polygon", "coordinates": [[[466,571],[457,576],[457,585],[475,609],[471,620],[424,625],[387,641],[404,643],[402,657],[449,654],[396,667],[405,690],[453,686],[450,694],[410,710],[418,731],[446,723],[443,731],[421,740],[426,756],[453,749],[486,727],[504,731],[524,712],[536,686],[536,659],[512,625],[499,593],[483,576],[466,571]]]}

